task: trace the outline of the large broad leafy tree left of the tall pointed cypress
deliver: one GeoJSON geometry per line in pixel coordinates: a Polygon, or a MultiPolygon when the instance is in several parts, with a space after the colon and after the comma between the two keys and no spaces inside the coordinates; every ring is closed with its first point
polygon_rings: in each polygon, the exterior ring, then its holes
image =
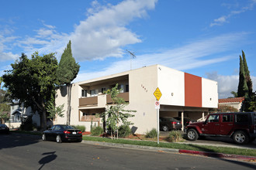
{"type": "Polygon", "coordinates": [[[19,100],[24,107],[31,107],[40,114],[41,129],[47,128],[47,102],[55,99],[57,59],[54,53],[39,56],[33,53],[31,59],[22,53],[12,70],[2,77],[7,94],[12,100],[19,100]]]}

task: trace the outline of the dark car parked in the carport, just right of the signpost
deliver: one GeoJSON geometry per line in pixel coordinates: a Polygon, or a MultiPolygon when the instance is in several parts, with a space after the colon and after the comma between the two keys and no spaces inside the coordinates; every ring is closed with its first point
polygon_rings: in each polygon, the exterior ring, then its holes
{"type": "Polygon", "coordinates": [[[161,131],[171,131],[182,128],[181,121],[178,121],[173,117],[159,117],[159,124],[161,131]]]}

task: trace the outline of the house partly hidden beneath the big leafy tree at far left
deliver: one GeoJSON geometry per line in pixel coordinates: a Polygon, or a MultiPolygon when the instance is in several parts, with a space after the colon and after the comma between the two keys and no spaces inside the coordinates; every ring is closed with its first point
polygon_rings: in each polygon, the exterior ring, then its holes
{"type": "MultiPolygon", "coordinates": [[[[9,121],[5,122],[5,124],[9,128],[19,128],[20,124],[22,124],[22,118],[26,118],[29,115],[33,114],[31,107],[23,107],[23,104],[19,105],[19,102],[14,102],[11,105],[10,117],[9,121]]],[[[33,114],[32,117],[33,124],[40,126],[40,116],[39,114],[33,114]]]]}

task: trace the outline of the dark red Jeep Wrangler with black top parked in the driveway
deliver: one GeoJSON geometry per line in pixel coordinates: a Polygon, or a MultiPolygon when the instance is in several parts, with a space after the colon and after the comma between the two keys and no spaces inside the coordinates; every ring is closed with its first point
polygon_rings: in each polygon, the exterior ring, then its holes
{"type": "Polygon", "coordinates": [[[209,114],[206,121],[189,124],[186,136],[190,141],[201,136],[229,137],[237,144],[247,144],[256,138],[256,113],[209,114]]]}

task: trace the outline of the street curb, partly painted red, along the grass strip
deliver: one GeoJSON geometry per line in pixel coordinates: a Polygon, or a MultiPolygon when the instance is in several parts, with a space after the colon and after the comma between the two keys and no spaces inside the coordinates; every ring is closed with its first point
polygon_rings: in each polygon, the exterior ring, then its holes
{"type": "Polygon", "coordinates": [[[202,155],[202,156],[212,157],[212,158],[228,158],[228,159],[236,159],[240,161],[256,162],[256,157],[254,156],[230,155],[230,154],[214,153],[209,151],[190,151],[190,150],[174,149],[174,148],[157,148],[157,147],[142,146],[142,145],[108,143],[108,142],[102,142],[102,141],[83,140],[81,141],[81,143],[85,143],[89,145],[109,146],[109,147],[115,147],[115,148],[130,148],[130,149],[140,149],[145,151],[172,152],[172,153],[180,153],[180,154],[202,155]]]}

